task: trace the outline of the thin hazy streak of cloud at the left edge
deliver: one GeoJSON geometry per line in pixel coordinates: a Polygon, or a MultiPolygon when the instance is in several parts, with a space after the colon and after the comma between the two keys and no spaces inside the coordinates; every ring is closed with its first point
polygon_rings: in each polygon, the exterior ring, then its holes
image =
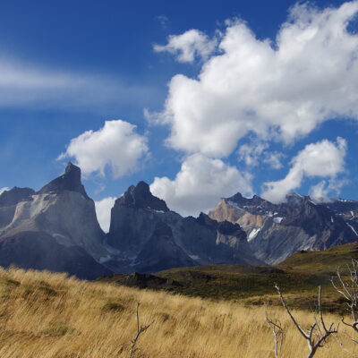
{"type": "Polygon", "coordinates": [[[0,107],[118,106],[118,102],[134,97],[138,101],[153,92],[103,74],[51,69],[1,54],[0,73],[0,107]]]}

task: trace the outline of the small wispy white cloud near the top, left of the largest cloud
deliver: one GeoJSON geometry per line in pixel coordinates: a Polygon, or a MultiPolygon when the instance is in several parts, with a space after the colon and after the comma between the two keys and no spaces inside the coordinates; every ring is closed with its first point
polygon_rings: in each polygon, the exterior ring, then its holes
{"type": "Polygon", "coordinates": [[[154,45],[156,52],[169,52],[179,62],[193,62],[195,58],[207,59],[217,46],[216,39],[210,39],[199,30],[188,30],[182,35],[170,35],[165,46],[154,45]]]}

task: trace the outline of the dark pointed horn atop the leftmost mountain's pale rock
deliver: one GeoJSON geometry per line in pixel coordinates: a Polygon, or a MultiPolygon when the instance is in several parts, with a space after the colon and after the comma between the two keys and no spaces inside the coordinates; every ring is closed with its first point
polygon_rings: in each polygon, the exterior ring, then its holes
{"type": "Polygon", "coordinates": [[[86,199],[90,199],[81,183],[80,167],[73,165],[71,162],[69,162],[64,169],[64,175],[58,176],[50,183],[47,183],[38,191],[38,194],[50,192],[59,193],[64,190],[70,192],[80,192],[86,199]]]}

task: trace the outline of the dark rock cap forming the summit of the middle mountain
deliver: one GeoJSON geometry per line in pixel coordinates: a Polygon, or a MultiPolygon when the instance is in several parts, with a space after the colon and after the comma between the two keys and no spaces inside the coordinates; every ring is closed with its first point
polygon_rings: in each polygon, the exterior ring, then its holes
{"type": "Polygon", "coordinates": [[[115,200],[115,205],[169,211],[166,201],[154,196],[150,192],[148,183],[145,182],[139,182],[136,186],[131,185],[119,199],[115,200]]]}

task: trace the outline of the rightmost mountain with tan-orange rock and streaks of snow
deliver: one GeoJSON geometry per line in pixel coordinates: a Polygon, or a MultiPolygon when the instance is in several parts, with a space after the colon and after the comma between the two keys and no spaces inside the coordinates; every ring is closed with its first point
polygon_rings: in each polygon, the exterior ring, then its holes
{"type": "Polygon", "coordinates": [[[290,194],[277,205],[237,193],[220,199],[209,217],[239,224],[255,255],[276,264],[298,250],[325,250],[357,241],[357,213],[358,203],[351,200],[316,203],[310,197],[290,194]]]}

